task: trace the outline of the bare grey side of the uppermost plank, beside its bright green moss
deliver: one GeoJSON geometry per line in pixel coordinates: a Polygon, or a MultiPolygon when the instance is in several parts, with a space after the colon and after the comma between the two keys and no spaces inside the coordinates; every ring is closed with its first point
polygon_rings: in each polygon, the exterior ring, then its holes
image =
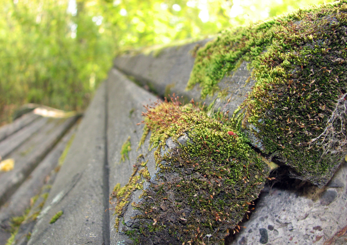
{"type": "Polygon", "coordinates": [[[194,52],[210,40],[163,49],[159,55],[150,53],[119,56],[114,60],[114,65],[162,97],[175,93],[188,100],[193,98],[200,102],[211,103],[216,99],[212,110],[229,111],[231,116],[246,99],[255,83],[250,79],[251,72],[247,69],[247,62],[243,62],[236,71],[225,76],[219,83],[221,90],[225,91],[225,96],[222,98],[208,96],[205,100],[201,100],[198,85],[192,90],[186,90],[194,65],[194,52]],[[227,102],[228,99],[231,99],[231,103],[227,102]]]}

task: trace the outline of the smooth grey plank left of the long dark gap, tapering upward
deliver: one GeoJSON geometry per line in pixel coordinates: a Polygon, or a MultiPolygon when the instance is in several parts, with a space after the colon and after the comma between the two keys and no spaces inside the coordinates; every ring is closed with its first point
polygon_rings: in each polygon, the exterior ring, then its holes
{"type": "MultiPolygon", "coordinates": [[[[104,221],[105,83],[79,125],[28,244],[107,244],[104,221]],[[64,212],[54,223],[51,218],[64,212]]],[[[108,187],[107,187],[108,188],[108,187]]]]}

